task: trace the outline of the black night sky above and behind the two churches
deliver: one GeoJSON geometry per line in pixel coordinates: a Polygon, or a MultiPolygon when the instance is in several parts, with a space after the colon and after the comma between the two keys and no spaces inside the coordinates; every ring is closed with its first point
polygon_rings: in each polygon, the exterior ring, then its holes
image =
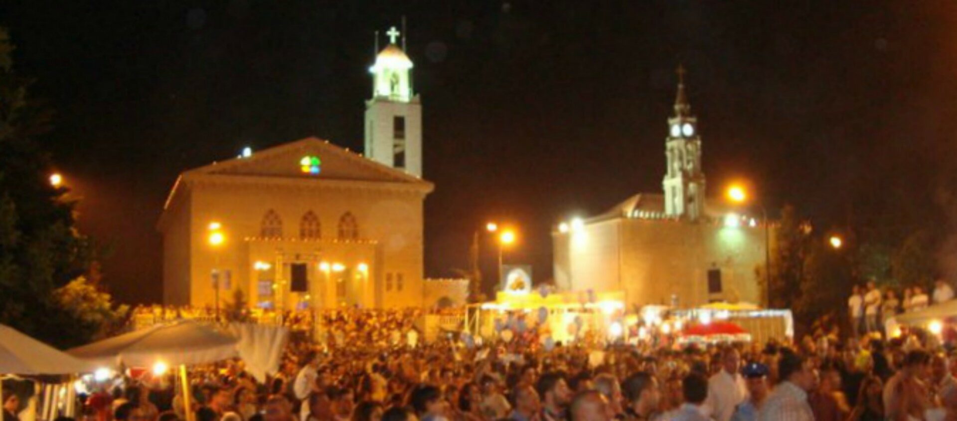
{"type": "Polygon", "coordinates": [[[311,135],[362,150],[372,34],[402,15],[430,277],[498,220],[521,233],[506,262],[545,280],[551,225],[660,191],[679,62],[712,195],[746,179],[768,209],[842,227],[934,206],[957,160],[952,1],[0,2],[17,70],[56,109],[42,141],[80,228],[132,302],[161,297],[155,227],[182,170],[311,135]]]}

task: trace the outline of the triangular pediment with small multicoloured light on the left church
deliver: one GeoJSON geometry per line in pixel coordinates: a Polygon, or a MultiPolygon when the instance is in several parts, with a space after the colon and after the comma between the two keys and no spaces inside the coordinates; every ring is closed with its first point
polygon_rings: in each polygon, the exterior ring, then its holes
{"type": "Polygon", "coordinates": [[[405,171],[384,166],[317,138],[280,144],[255,151],[249,157],[234,158],[188,172],[312,180],[426,183],[405,171]]]}

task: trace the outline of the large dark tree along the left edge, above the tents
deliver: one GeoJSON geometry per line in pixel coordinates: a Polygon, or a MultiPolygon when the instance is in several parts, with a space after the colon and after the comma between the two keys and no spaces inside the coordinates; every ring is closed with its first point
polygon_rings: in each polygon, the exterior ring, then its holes
{"type": "Polygon", "coordinates": [[[0,323],[75,345],[100,331],[95,315],[109,298],[91,296],[83,281],[68,287],[87,271],[94,248],[75,227],[67,190],[49,183],[52,166],[38,137],[53,113],[29,95],[31,80],[14,73],[11,51],[0,29],[0,323]],[[90,307],[71,297],[98,301],[90,307]]]}

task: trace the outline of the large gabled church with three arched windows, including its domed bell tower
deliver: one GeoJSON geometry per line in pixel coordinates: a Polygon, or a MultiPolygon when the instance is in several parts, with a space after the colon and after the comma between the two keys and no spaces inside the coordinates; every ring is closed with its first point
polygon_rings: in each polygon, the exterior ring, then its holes
{"type": "Polygon", "coordinates": [[[158,224],[167,304],[222,306],[238,290],[262,308],[422,305],[434,186],[397,35],[369,69],[366,156],[307,138],[180,174],[158,224]]]}

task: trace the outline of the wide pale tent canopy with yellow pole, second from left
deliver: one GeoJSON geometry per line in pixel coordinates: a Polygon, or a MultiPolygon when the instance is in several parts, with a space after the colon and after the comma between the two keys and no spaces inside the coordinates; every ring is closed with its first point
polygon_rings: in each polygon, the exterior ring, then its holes
{"type": "Polygon", "coordinates": [[[237,340],[210,325],[195,321],[158,324],[97,343],[68,350],[73,356],[101,366],[150,367],[194,365],[236,356],[237,340]]]}

